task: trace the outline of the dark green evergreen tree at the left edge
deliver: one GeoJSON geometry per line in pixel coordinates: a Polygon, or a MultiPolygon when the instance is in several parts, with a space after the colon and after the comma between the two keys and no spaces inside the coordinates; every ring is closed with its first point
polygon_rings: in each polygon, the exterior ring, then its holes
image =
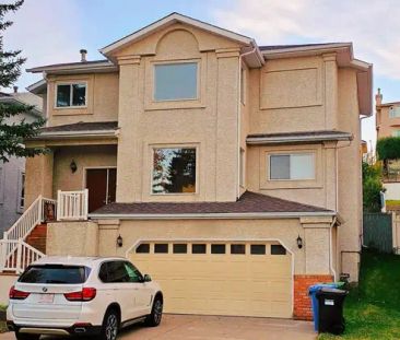
{"type": "MultiPolygon", "coordinates": [[[[5,20],[5,14],[17,11],[24,0],[14,3],[0,3],[0,33],[10,27],[13,23],[5,20]]],[[[21,75],[21,67],[26,61],[21,57],[21,50],[4,50],[3,36],[0,34],[0,86],[10,87],[21,75]]],[[[32,157],[46,152],[43,148],[26,149],[24,139],[38,134],[44,126],[45,119],[38,118],[34,122],[26,122],[24,119],[13,119],[21,114],[28,113],[34,108],[31,105],[15,104],[14,102],[0,104],[0,161],[8,162],[10,156],[32,157]]]]}

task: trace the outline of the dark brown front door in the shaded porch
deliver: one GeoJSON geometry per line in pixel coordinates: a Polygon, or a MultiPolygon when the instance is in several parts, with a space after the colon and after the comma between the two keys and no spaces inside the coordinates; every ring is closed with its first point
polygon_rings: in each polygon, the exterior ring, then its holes
{"type": "Polygon", "coordinates": [[[117,169],[86,169],[86,188],[89,190],[89,212],[93,212],[116,200],[117,169]]]}

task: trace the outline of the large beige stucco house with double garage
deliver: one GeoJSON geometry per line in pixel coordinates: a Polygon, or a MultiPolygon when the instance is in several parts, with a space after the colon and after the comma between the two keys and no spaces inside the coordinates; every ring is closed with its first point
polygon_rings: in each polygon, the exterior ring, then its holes
{"type": "Polygon", "coordinates": [[[307,319],[310,284],[357,281],[372,65],[351,43],[260,46],[173,13],[101,52],[28,70],[47,254],[127,256],[167,313],[307,319]]]}

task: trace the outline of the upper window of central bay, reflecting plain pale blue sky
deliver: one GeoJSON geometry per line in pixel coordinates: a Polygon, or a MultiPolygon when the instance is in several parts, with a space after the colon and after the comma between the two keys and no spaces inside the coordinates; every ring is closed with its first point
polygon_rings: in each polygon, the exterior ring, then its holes
{"type": "Polygon", "coordinates": [[[161,63],[154,66],[154,101],[197,99],[198,63],[161,63]]]}

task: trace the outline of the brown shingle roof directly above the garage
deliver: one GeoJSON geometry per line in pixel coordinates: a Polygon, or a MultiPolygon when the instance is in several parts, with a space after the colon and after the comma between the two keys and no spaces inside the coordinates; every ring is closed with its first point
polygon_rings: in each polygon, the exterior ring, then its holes
{"type": "Polygon", "coordinates": [[[102,214],[213,214],[213,213],[315,213],[333,211],[267,195],[246,191],[236,202],[110,203],[93,212],[102,214]]]}

